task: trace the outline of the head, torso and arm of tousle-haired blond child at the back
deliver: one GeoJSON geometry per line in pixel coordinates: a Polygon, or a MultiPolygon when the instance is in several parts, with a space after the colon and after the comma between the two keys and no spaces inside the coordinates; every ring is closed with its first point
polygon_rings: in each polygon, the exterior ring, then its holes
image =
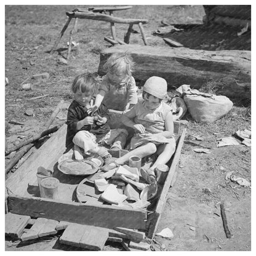
{"type": "Polygon", "coordinates": [[[138,102],[137,87],[132,77],[134,63],[127,54],[113,54],[103,69],[106,75],[100,83],[95,104],[90,112],[98,109],[103,102],[108,109],[126,111],[138,102]]]}

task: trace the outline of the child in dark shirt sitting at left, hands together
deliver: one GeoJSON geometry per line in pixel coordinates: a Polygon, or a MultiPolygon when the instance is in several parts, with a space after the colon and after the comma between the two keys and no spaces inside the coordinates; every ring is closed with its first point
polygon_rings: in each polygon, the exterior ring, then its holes
{"type": "Polygon", "coordinates": [[[68,108],[66,145],[73,142],[76,159],[84,159],[85,154],[97,153],[103,158],[105,164],[111,162],[108,150],[99,145],[111,145],[114,142],[114,147],[121,148],[125,142],[119,138],[124,137],[126,141],[127,131],[110,129],[107,124],[108,108],[103,104],[99,106],[94,116],[89,116],[87,113],[90,106],[94,104],[94,95],[97,91],[97,82],[92,74],[77,76],[71,89],[74,100],[68,108]]]}

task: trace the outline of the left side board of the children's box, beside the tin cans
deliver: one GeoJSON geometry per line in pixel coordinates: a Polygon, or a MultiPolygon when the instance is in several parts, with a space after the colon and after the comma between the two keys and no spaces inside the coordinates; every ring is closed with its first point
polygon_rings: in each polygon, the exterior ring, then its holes
{"type": "Polygon", "coordinates": [[[28,194],[28,183],[36,182],[39,166],[53,170],[58,158],[65,152],[66,124],[55,132],[38,150],[28,158],[14,174],[6,180],[6,187],[12,193],[23,196],[28,194]]]}

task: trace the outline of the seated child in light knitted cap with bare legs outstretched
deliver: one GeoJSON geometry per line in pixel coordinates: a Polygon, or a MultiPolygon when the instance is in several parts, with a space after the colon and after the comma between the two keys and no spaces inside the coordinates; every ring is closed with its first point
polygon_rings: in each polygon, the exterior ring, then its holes
{"type": "Polygon", "coordinates": [[[166,164],[175,151],[174,123],[172,109],[162,102],[167,94],[167,82],[158,76],[149,78],[143,86],[143,102],[137,103],[130,111],[123,114],[122,122],[135,131],[130,148],[132,151],[112,163],[103,170],[113,169],[129,161],[130,156],[144,158],[157,153],[158,158],[148,170],[141,169],[142,176],[148,182],[155,181],[154,169],[159,164],[166,164]]]}

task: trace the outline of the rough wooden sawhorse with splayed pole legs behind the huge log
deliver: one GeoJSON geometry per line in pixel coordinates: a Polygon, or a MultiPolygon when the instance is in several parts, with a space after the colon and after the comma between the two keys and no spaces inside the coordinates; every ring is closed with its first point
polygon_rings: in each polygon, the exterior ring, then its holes
{"type": "Polygon", "coordinates": [[[74,9],[72,12],[66,12],[66,15],[68,16],[68,20],[66,21],[65,25],[62,28],[62,31],[60,32],[58,38],[56,39],[54,46],[50,50],[50,54],[52,54],[54,50],[57,48],[58,43],[60,42],[60,39],[62,38],[64,32],[66,31],[66,28],[68,28],[68,25],[70,24],[72,18],[74,18],[74,26],[73,26],[73,29],[70,31],[70,42],[68,46],[68,54],[66,57],[67,60],[70,58],[72,38],[73,38],[73,33],[76,31],[78,18],[86,18],[89,20],[103,20],[104,22],[110,22],[111,34],[113,39],[105,38],[105,40],[108,42],[111,42],[111,44],[129,44],[130,34],[132,33],[132,26],[134,24],[137,24],[140,28],[140,33],[142,34],[142,39],[145,46],[148,45],[148,43],[146,42],[144,30],[143,30],[143,24],[148,23],[148,20],[135,19],[135,18],[119,18],[119,17],[113,16],[113,12],[115,10],[127,10],[131,8],[132,6],[90,7],[85,9],[74,9]],[[107,15],[106,12],[109,12],[110,14],[107,15]],[[124,36],[124,41],[121,41],[117,38],[114,23],[129,24],[127,33],[124,36]]]}

